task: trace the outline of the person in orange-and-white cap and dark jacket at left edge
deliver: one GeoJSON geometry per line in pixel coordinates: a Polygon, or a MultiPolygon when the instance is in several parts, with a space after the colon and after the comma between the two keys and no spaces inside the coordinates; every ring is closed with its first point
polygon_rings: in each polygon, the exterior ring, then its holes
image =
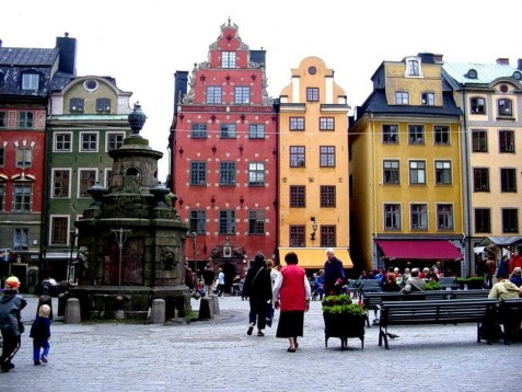
{"type": "Polygon", "coordinates": [[[20,280],[15,276],[5,279],[3,296],[0,299],[0,328],[2,330],[1,370],[8,372],[14,368],[12,359],[20,349],[21,334],[24,324],[21,321],[21,311],[27,301],[19,295],[20,280]]]}

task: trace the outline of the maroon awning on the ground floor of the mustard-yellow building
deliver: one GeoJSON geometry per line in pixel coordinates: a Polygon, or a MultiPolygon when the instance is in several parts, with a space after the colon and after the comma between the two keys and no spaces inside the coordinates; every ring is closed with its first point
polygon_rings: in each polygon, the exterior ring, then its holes
{"type": "Polygon", "coordinates": [[[432,260],[461,261],[459,249],[450,241],[442,240],[381,240],[375,241],[384,254],[384,260],[432,260]]]}

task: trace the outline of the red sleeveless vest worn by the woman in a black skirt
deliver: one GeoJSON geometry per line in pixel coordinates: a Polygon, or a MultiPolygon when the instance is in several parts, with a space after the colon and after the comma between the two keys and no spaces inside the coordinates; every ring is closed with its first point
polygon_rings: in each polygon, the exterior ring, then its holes
{"type": "Polygon", "coordinates": [[[294,264],[281,269],[282,285],[279,292],[281,312],[305,311],[306,290],[304,289],[305,272],[294,264]]]}

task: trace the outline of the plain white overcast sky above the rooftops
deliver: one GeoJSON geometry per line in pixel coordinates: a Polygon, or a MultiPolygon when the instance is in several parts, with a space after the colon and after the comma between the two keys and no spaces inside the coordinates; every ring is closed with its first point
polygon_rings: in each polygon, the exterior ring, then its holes
{"type": "Polygon", "coordinates": [[[519,0],[25,0],[2,4],[3,47],[53,48],[67,32],[77,38],[77,76],[116,79],[147,115],[141,135],[163,152],[174,112],[174,73],[207,60],[220,26],[231,22],[251,49],[266,50],[268,94],[290,83],[291,69],[309,56],[335,70],[351,107],[372,91],[383,61],[418,53],[445,61],[495,62],[522,58],[519,0]]]}

